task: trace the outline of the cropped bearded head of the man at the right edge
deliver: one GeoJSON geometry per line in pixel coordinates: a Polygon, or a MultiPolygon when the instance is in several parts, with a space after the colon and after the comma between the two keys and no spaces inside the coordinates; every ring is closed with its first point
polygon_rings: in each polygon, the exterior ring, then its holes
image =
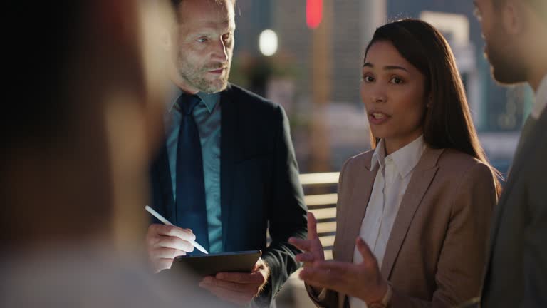
{"type": "Polygon", "coordinates": [[[476,0],[484,54],[499,83],[530,81],[538,87],[547,72],[547,1],[476,0]]]}

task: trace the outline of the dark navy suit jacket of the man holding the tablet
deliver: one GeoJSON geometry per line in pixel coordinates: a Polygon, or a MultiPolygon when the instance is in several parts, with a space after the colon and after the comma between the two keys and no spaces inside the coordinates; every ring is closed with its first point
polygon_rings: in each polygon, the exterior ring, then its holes
{"type": "MultiPolygon", "coordinates": [[[[281,106],[234,85],[222,91],[220,103],[224,251],[262,250],[271,276],[261,299],[271,300],[298,268],[294,258],[298,250],[288,244],[288,237],[307,234],[306,205],[288,119],[281,106]]],[[[151,180],[152,207],[174,221],[165,143],[152,163],[151,180]]]]}

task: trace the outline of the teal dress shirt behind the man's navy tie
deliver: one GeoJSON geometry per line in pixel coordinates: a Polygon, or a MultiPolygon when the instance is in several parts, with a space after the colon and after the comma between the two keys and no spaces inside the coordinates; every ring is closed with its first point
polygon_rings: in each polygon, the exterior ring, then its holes
{"type": "MultiPolygon", "coordinates": [[[[172,91],[172,96],[167,101],[167,112],[164,116],[173,200],[177,197],[177,143],[179,139],[179,126],[182,119],[177,108],[174,108],[174,104],[177,103],[177,98],[181,94],[182,91],[178,87],[172,91]]],[[[197,96],[202,101],[194,108],[192,114],[199,131],[199,140],[202,143],[209,252],[223,252],[220,207],[220,93],[208,94],[199,92],[197,96]]]]}

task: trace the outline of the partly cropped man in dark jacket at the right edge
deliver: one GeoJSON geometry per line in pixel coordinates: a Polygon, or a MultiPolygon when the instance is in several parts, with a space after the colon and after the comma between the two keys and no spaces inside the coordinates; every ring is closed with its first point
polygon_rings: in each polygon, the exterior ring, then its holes
{"type": "Polygon", "coordinates": [[[547,307],[547,1],[474,2],[494,79],[536,92],[494,215],[481,306],[547,307]]]}

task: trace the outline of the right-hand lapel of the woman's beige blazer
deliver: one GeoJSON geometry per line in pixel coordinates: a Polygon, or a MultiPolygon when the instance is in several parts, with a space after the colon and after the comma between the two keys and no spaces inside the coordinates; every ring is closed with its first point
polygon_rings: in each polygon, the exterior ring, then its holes
{"type": "Polygon", "coordinates": [[[437,160],[444,149],[426,148],[422,158],[418,162],[410,183],[408,184],[405,195],[401,200],[399,212],[393,223],[390,239],[387,241],[385,248],[384,260],[382,261],[382,277],[388,279],[391,270],[399,254],[402,242],[405,240],[410,222],[415,215],[417,208],[420,206],[425,192],[429,188],[429,184],[437,173],[437,160]]]}

